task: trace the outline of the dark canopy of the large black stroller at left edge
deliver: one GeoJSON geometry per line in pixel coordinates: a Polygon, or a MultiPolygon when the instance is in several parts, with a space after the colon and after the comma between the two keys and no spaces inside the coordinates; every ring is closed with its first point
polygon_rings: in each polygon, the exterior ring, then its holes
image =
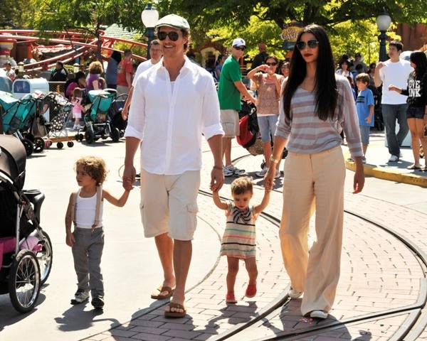
{"type": "Polygon", "coordinates": [[[0,135],[0,172],[21,190],[25,181],[26,151],[15,136],[0,135]]]}

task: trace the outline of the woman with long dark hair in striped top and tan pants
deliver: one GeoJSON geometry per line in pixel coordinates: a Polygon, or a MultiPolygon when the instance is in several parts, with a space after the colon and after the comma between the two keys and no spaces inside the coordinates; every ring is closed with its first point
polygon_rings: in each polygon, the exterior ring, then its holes
{"type": "MultiPolygon", "coordinates": [[[[343,129],[356,162],[354,193],[359,193],[364,185],[363,152],[352,90],[344,77],[334,75],[325,30],[306,26],[297,37],[290,75],[283,84],[270,162],[278,163],[288,147],[280,243],[291,281],[289,295],[298,298],[304,293],[301,313],[312,318],[327,318],[339,279],[345,177],[339,134],[343,129]],[[309,255],[307,234],[315,211],[317,240],[309,255]]],[[[266,188],[273,186],[270,170],[264,178],[266,188]]]]}

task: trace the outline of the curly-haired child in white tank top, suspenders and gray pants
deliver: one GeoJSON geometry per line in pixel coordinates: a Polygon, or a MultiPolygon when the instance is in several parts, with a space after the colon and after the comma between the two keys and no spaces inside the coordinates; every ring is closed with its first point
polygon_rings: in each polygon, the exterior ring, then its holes
{"type": "Polygon", "coordinates": [[[104,306],[104,284],[101,274],[101,256],[104,247],[102,228],[102,206],[106,199],[112,205],[122,207],[127,201],[129,190],[117,199],[102,183],[107,175],[105,162],[96,156],[85,156],[75,163],[76,180],[80,189],[70,195],[65,215],[66,243],[73,250],[74,269],[78,289],[71,304],[88,300],[89,288],[94,308],[104,306]],[[71,222],[74,232],[71,232],[71,222]]]}

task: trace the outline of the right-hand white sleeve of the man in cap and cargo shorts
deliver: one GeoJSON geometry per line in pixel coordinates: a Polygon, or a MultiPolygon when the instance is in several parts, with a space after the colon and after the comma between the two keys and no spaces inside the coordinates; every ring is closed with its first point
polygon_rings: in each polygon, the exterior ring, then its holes
{"type": "Polygon", "coordinates": [[[224,131],[221,126],[218,95],[216,94],[213,78],[206,82],[202,115],[201,131],[206,140],[211,139],[212,136],[224,135],[224,131]]]}

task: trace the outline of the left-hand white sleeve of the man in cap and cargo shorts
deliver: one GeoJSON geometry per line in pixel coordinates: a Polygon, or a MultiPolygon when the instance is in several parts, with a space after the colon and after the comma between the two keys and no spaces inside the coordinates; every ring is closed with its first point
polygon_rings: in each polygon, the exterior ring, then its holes
{"type": "Polygon", "coordinates": [[[129,117],[127,118],[127,127],[125,137],[136,137],[139,140],[144,139],[145,126],[145,99],[144,99],[144,77],[139,77],[132,94],[130,102],[129,117]]]}

